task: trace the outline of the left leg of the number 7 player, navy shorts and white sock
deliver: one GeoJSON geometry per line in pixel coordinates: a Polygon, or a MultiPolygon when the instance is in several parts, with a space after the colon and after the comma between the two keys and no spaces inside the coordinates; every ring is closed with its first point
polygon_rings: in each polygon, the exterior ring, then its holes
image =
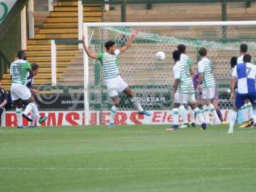
{"type": "Polygon", "coordinates": [[[239,108],[241,108],[241,106],[243,106],[245,99],[246,99],[246,96],[241,95],[239,93],[236,94],[234,108],[233,108],[233,111],[231,112],[230,119],[229,119],[228,133],[234,132],[234,125],[236,124],[237,111],[239,108]]]}

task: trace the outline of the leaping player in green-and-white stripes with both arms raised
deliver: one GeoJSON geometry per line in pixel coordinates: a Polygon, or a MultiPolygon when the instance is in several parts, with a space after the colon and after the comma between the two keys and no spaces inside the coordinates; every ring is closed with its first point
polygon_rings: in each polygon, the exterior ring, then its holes
{"type": "Polygon", "coordinates": [[[150,116],[151,113],[148,111],[143,110],[141,108],[140,102],[134,97],[134,94],[129,88],[129,86],[124,82],[122,77],[120,77],[120,70],[119,70],[119,61],[118,56],[122,54],[123,52],[127,51],[132,45],[132,42],[138,35],[138,32],[135,30],[132,30],[132,36],[130,40],[127,42],[127,44],[124,45],[124,47],[121,47],[120,49],[116,48],[115,42],[108,41],[105,44],[106,52],[99,52],[99,53],[92,53],[88,50],[87,45],[85,44],[85,39],[83,36],[83,45],[84,50],[86,54],[95,60],[100,60],[102,63],[102,74],[105,81],[105,84],[108,88],[108,93],[111,99],[113,100],[113,106],[111,108],[111,123],[110,125],[114,125],[114,118],[115,113],[118,111],[118,108],[120,107],[120,98],[118,97],[118,93],[124,92],[131,102],[136,106],[140,114],[150,116]]]}

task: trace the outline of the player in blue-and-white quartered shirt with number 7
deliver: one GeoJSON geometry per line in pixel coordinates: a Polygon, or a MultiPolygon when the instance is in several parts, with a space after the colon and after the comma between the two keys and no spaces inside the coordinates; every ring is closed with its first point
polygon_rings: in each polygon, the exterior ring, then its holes
{"type": "MultiPolygon", "coordinates": [[[[256,89],[255,89],[255,76],[256,76],[256,66],[250,63],[252,57],[250,54],[244,54],[243,63],[238,63],[232,72],[231,79],[231,100],[235,100],[234,109],[230,116],[230,124],[228,133],[233,133],[234,124],[236,123],[237,111],[244,105],[246,99],[250,102],[256,103],[256,89]],[[235,88],[237,83],[237,93],[235,99],[235,88]]],[[[253,115],[254,122],[255,116],[253,115]]],[[[256,124],[253,124],[256,127],[256,124]]]]}

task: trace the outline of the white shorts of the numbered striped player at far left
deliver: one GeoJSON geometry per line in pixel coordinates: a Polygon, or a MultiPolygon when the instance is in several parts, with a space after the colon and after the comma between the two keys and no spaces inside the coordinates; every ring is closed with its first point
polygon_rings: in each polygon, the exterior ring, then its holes
{"type": "Polygon", "coordinates": [[[19,99],[28,100],[31,97],[31,92],[23,84],[12,83],[11,97],[13,101],[19,100],[19,99]]]}

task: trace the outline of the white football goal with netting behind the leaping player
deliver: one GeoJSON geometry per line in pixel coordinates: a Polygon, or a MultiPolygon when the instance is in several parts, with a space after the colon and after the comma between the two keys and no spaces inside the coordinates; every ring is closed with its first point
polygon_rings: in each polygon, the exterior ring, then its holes
{"type": "MultiPolygon", "coordinates": [[[[120,76],[130,85],[143,108],[152,111],[170,111],[173,98],[173,60],[172,52],[177,45],[186,45],[186,54],[193,60],[197,70],[200,60],[198,49],[206,47],[207,57],[214,64],[214,76],[219,93],[221,109],[232,108],[227,89],[230,84],[230,58],[239,56],[241,43],[248,44],[248,51],[254,60],[256,54],[256,22],[140,22],[140,23],[84,23],[84,35],[92,52],[104,52],[108,40],[122,47],[132,28],[139,31],[133,46],[120,58],[120,76]],[[166,54],[164,61],[157,61],[157,51],[166,54]]],[[[112,100],[108,96],[102,79],[101,63],[91,60],[84,53],[84,104],[87,124],[108,123],[108,111],[112,100]],[[106,113],[105,113],[106,112],[106,113]],[[97,115],[100,114],[100,115],[97,115]]],[[[124,95],[120,95],[122,111],[136,109],[124,95]]],[[[168,114],[166,115],[168,118],[168,114]]],[[[110,116],[109,116],[110,118],[110,116]]],[[[124,118],[124,117],[123,117],[124,118]]],[[[125,118],[131,118],[125,117],[125,118]]],[[[136,118],[139,118],[138,116],[136,118]]],[[[167,119],[168,120],[168,119],[167,119]]],[[[125,122],[116,120],[120,124],[125,122]]],[[[159,118],[159,123],[166,120],[159,118]]]]}

